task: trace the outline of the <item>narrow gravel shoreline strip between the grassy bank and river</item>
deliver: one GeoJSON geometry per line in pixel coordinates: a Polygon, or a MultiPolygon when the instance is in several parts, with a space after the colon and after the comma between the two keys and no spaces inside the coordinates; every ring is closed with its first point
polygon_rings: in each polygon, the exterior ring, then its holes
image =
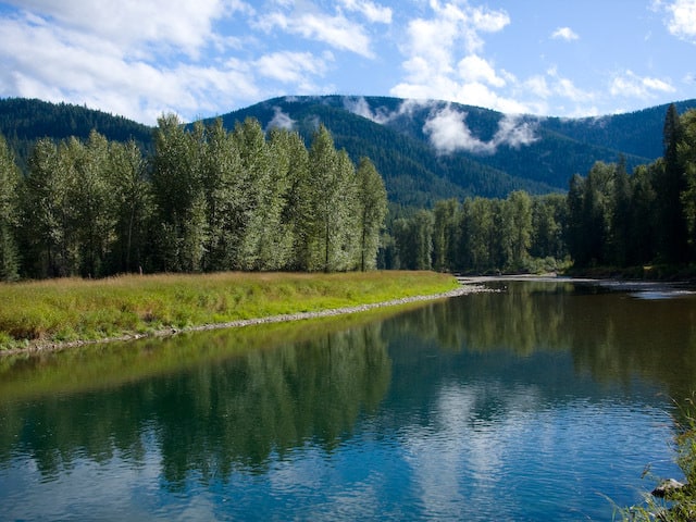
{"type": "Polygon", "coordinates": [[[464,296],[468,294],[474,294],[478,291],[488,291],[488,290],[481,285],[462,284],[462,286],[459,288],[456,288],[450,291],[445,291],[442,294],[433,294],[428,296],[403,297],[400,299],[393,299],[390,301],[373,302],[370,304],[359,304],[356,307],[335,308],[335,309],[328,309],[328,310],[320,310],[315,312],[297,312],[297,313],[287,313],[287,314],[281,314],[281,315],[269,315],[264,318],[254,318],[254,319],[240,319],[237,321],[229,321],[226,323],[201,324],[197,326],[188,326],[185,328],[170,327],[170,328],[158,330],[154,332],[148,332],[145,334],[124,334],[122,336],[107,337],[103,339],[74,340],[74,341],[66,341],[66,343],[36,343],[36,344],[29,344],[24,348],[12,348],[9,350],[0,350],[0,357],[16,356],[16,355],[23,355],[23,353],[28,355],[28,353],[59,351],[59,350],[74,348],[78,346],[96,345],[96,344],[102,344],[102,343],[125,341],[125,340],[137,340],[137,339],[144,339],[149,337],[169,337],[172,335],[183,334],[187,332],[204,332],[204,331],[211,331],[211,330],[225,330],[225,328],[237,328],[243,326],[252,326],[256,324],[283,323],[283,322],[289,322],[289,321],[304,321],[309,319],[330,318],[334,315],[365,312],[368,310],[373,310],[376,308],[407,304],[409,302],[447,299],[451,297],[459,297],[459,296],[464,296]]]}

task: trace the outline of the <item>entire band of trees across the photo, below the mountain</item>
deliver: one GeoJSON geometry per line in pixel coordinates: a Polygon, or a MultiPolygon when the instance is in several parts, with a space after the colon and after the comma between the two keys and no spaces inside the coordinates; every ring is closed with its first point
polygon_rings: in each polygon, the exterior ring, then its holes
{"type": "Polygon", "coordinates": [[[597,161],[566,194],[509,191],[389,203],[320,125],[185,126],[162,116],[134,141],[40,139],[23,173],[0,141],[0,278],[127,272],[558,271],[696,261],[696,110],[672,104],[663,154],[629,172],[597,161]]]}

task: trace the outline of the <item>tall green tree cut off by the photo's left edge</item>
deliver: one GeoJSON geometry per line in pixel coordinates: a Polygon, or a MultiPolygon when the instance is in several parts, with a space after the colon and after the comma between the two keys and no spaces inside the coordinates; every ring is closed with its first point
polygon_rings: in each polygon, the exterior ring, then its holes
{"type": "Polygon", "coordinates": [[[18,185],[20,171],[0,135],[0,281],[18,277],[20,251],[15,236],[20,224],[18,185]]]}

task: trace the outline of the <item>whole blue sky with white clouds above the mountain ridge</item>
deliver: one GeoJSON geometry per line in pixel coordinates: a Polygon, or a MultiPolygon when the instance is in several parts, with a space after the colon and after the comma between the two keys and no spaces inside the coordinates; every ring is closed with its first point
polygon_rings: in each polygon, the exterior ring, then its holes
{"type": "Polygon", "coordinates": [[[153,125],[297,95],[592,116],[696,98],[696,0],[0,1],[0,98],[153,125]]]}

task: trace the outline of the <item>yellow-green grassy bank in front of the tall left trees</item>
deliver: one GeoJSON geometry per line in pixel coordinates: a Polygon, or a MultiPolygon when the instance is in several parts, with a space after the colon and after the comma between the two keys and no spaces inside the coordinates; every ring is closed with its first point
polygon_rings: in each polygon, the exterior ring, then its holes
{"type": "Polygon", "coordinates": [[[98,340],[433,295],[432,272],[125,275],[0,285],[0,349],[98,340]]]}

